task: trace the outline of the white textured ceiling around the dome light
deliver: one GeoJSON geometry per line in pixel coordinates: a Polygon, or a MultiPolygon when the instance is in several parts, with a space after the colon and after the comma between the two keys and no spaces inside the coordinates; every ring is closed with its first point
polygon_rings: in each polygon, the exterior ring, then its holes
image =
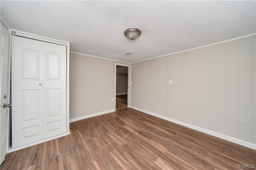
{"type": "Polygon", "coordinates": [[[0,1],[13,29],[132,63],[256,32],[256,1],[0,1]],[[131,41],[124,31],[142,31],[131,41]],[[132,51],[132,55],[122,53],[132,51]]]}

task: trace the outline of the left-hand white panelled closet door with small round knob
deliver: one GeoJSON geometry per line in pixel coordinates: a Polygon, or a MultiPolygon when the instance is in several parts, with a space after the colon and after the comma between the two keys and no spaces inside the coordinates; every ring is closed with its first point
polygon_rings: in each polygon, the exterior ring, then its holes
{"type": "Polygon", "coordinates": [[[12,148],[43,139],[42,69],[42,41],[12,35],[12,148]]]}

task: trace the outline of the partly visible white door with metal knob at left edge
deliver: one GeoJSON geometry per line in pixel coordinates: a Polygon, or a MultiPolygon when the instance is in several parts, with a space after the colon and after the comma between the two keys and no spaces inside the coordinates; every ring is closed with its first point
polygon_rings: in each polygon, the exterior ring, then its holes
{"type": "MultiPolygon", "coordinates": [[[[8,107],[3,107],[7,103],[7,73],[8,73],[8,52],[9,52],[9,31],[1,22],[1,51],[0,51],[0,164],[6,155],[5,132],[6,132],[6,111],[8,107]]],[[[8,104],[8,103],[7,103],[8,104]]]]}

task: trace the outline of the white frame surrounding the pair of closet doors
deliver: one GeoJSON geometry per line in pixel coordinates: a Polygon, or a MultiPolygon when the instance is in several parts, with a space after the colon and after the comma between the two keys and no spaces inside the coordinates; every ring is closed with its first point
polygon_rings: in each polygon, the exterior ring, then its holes
{"type": "MultiPolygon", "coordinates": [[[[66,42],[66,41],[60,41],[60,40],[57,40],[57,39],[52,39],[52,38],[49,38],[49,37],[44,37],[44,36],[41,36],[41,35],[36,35],[36,34],[32,34],[32,33],[27,33],[27,32],[24,32],[24,31],[19,31],[19,30],[16,30],[16,29],[9,29],[9,32],[10,32],[10,38],[9,38],[9,57],[8,57],[8,84],[7,84],[7,101],[10,101],[11,99],[11,96],[10,96],[10,80],[11,80],[11,45],[12,45],[12,35],[13,33],[15,32],[14,35],[16,36],[20,36],[20,37],[25,37],[25,38],[30,38],[30,39],[35,39],[35,40],[39,40],[39,41],[45,41],[45,42],[48,42],[48,43],[54,43],[54,44],[59,44],[59,45],[65,45],[67,47],[67,70],[66,70],[66,75],[67,75],[67,78],[66,78],[66,83],[67,83],[67,132],[62,134],[62,135],[58,135],[58,136],[55,136],[55,137],[50,137],[48,139],[44,139],[42,141],[38,141],[38,142],[35,142],[35,143],[31,143],[29,145],[25,145],[25,146],[22,146],[22,147],[18,147],[18,148],[15,148],[15,149],[12,149],[12,147],[10,147],[9,145],[9,115],[6,116],[6,153],[10,153],[10,152],[13,152],[13,151],[16,151],[16,150],[20,150],[20,149],[23,149],[23,148],[26,148],[26,147],[30,147],[32,145],[36,145],[36,144],[39,144],[39,143],[43,143],[43,142],[46,142],[46,141],[50,141],[52,139],[56,139],[58,137],[62,137],[62,136],[65,136],[65,135],[68,135],[70,134],[70,128],[69,128],[69,71],[70,71],[70,43],[69,42],[66,42]]],[[[10,113],[11,114],[11,113],[10,113]]]]}

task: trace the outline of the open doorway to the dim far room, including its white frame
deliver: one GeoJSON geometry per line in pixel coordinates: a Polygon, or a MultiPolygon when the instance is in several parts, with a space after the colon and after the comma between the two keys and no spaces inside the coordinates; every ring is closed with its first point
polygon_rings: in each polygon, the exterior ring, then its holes
{"type": "Polygon", "coordinates": [[[130,107],[130,66],[116,64],[115,109],[130,107]]]}

